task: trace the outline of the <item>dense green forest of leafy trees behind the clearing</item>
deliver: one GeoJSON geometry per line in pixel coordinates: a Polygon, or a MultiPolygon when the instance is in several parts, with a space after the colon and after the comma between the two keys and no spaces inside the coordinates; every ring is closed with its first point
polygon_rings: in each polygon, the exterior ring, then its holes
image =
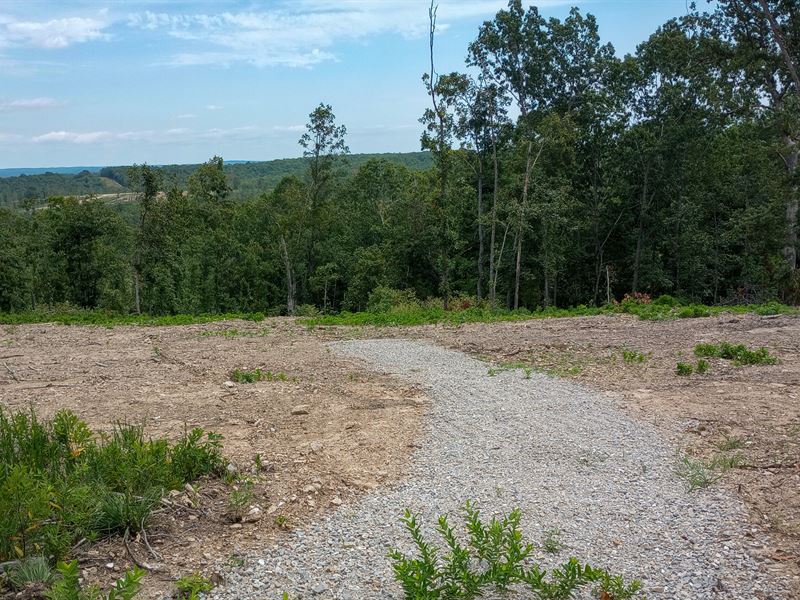
{"type": "Polygon", "coordinates": [[[624,57],[593,16],[520,0],[462,72],[437,72],[436,36],[432,8],[429,167],[343,167],[322,103],[275,185],[234,194],[216,156],[112,170],[137,202],[0,209],[0,310],[358,311],[378,288],[497,309],[800,300],[796,0],[692,6],[624,57]]]}

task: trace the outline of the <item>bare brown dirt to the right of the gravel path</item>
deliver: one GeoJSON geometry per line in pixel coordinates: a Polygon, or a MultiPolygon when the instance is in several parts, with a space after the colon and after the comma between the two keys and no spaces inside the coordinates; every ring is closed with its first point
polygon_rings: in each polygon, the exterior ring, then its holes
{"type": "Polygon", "coordinates": [[[420,327],[407,334],[480,356],[495,368],[520,363],[601,390],[707,463],[736,456],[739,464],[717,485],[745,501],[765,565],[793,577],[800,598],[800,318],[620,315],[420,327]],[[705,374],[676,374],[678,362],[697,363],[696,344],[723,341],[765,346],[780,362],[735,366],[707,359],[705,374]],[[645,358],[626,361],[623,349],[645,358]]]}

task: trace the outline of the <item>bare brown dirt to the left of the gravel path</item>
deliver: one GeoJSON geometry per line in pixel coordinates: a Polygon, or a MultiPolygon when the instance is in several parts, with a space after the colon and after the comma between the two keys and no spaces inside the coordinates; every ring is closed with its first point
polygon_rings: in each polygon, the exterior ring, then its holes
{"type": "MultiPolygon", "coordinates": [[[[174,492],[130,544],[152,567],[145,596],[159,596],[219,561],[402,476],[425,412],[412,386],[335,356],[291,321],[182,327],[0,326],[0,406],[42,416],[74,411],[99,431],[119,420],[177,439],[186,427],[224,436],[224,453],[257,483],[255,523],[226,515],[230,488],[201,481],[174,492]],[[287,381],[230,383],[233,369],[284,373],[287,381]],[[226,383],[227,382],[227,383],[226,383]],[[307,405],[308,414],[293,415],[307,405]],[[256,454],[261,468],[256,466],[256,454]]],[[[120,540],[83,548],[88,581],[107,584],[132,566],[120,540]]]]}

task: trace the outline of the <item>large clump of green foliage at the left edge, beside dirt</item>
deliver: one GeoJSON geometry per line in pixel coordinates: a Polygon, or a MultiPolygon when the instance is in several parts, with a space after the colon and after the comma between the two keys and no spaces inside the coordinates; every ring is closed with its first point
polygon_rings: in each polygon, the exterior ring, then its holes
{"type": "Polygon", "coordinates": [[[220,440],[193,429],[170,445],[122,423],[96,436],[69,411],[0,409],[0,562],[138,531],[165,490],[222,472],[220,440]]]}

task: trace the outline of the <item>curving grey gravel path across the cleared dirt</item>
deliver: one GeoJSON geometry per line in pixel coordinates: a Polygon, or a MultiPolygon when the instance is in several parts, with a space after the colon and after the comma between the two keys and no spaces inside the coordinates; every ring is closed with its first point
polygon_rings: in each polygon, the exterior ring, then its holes
{"type": "Polygon", "coordinates": [[[411,473],[249,557],[212,598],[402,598],[386,553],[410,549],[403,509],[433,525],[467,499],[486,516],[520,507],[533,541],[559,530],[565,548],[538,552],[542,564],[576,556],[642,580],[651,600],[789,596],[763,569],[741,502],[719,486],[688,492],[675,449],[608,398],[538,373],[492,376],[421,342],[333,347],[425,387],[432,406],[411,473]]]}

